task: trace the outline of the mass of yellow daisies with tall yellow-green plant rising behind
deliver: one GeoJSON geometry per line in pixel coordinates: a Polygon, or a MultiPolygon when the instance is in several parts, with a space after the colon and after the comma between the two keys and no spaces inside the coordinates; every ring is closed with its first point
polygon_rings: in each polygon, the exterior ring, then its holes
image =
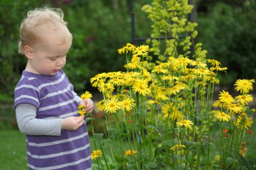
{"type": "Polygon", "coordinates": [[[100,73],[91,79],[103,95],[98,110],[106,113],[105,136],[118,145],[110,154],[116,169],[238,166],[236,151],[253,124],[249,92],[255,81],[239,79],[234,86],[240,95],[232,97],[222,90],[214,101],[218,73],[227,68],[206,59],[202,44],[195,44],[197,24],[187,20],[192,8],[177,0],[144,5],[154,39],[139,46],[127,43],[118,50],[127,60],[125,72],[100,73]],[[223,134],[226,128],[228,135],[223,134]],[[219,142],[212,137],[214,129],[219,142]],[[211,153],[214,143],[220,146],[217,155],[211,153]]]}

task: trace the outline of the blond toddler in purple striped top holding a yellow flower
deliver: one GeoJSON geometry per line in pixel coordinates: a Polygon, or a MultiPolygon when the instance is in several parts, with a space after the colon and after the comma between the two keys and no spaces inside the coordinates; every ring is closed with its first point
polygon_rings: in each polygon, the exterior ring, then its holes
{"type": "Polygon", "coordinates": [[[29,169],[92,169],[84,116],[93,101],[81,99],[62,71],[72,35],[61,9],[28,12],[20,26],[19,50],[28,59],[15,87],[14,108],[20,131],[26,134],[29,169]]]}

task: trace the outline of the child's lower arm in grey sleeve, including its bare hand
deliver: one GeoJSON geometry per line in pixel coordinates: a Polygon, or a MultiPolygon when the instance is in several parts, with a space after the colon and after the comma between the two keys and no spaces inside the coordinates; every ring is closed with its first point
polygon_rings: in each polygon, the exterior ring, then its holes
{"type": "Polygon", "coordinates": [[[82,116],[71,116],[63,119],[38,119],[36,118],[36,110],[36,106],[29,103],[20,103],[15,107],[18,126],[24,134],[60,136],[61,129],[77,130],[84,124],[82,116]]]}

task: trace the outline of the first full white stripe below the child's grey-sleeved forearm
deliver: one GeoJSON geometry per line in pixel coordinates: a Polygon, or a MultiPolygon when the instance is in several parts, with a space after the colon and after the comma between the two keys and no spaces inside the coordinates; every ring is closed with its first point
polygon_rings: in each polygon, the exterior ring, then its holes
{"type": "Polygon", "coordinates": [[[51,145],[55,145],[55,144],[61,144],[61,143],[65,143],[65,142],[71,142],[73,140],[77,140],[79,138],[84,138],[85,136],[88,136],[88,132],[84,133],[84,134],[80,134],[79,136],[75,136],[72,138],[67,138],[67,139],[63,139],[63,140],[57,140],[54,142],[45,142],[45,143],[34,143],[34,142],[28,142],[28,146],[36,146],[36,147],[41,147],[41,146],[51,146],[51,145]]]}

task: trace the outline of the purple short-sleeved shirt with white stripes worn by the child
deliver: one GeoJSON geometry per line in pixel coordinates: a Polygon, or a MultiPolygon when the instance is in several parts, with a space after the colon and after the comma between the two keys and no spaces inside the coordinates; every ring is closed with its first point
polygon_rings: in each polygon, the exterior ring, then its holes
{"type": "MultiPolygon", "coordinates": [[[[53,76],[23,71],[14,98],[14,107],[20,103],[35,105],[38,119],[79,116],[81,98],[63,71],[53,76]]],[[[92,169],[86,124],[76,131],[61,130],[60,136],[27,134],[26,144],[29,169],[92,169]]]]}

